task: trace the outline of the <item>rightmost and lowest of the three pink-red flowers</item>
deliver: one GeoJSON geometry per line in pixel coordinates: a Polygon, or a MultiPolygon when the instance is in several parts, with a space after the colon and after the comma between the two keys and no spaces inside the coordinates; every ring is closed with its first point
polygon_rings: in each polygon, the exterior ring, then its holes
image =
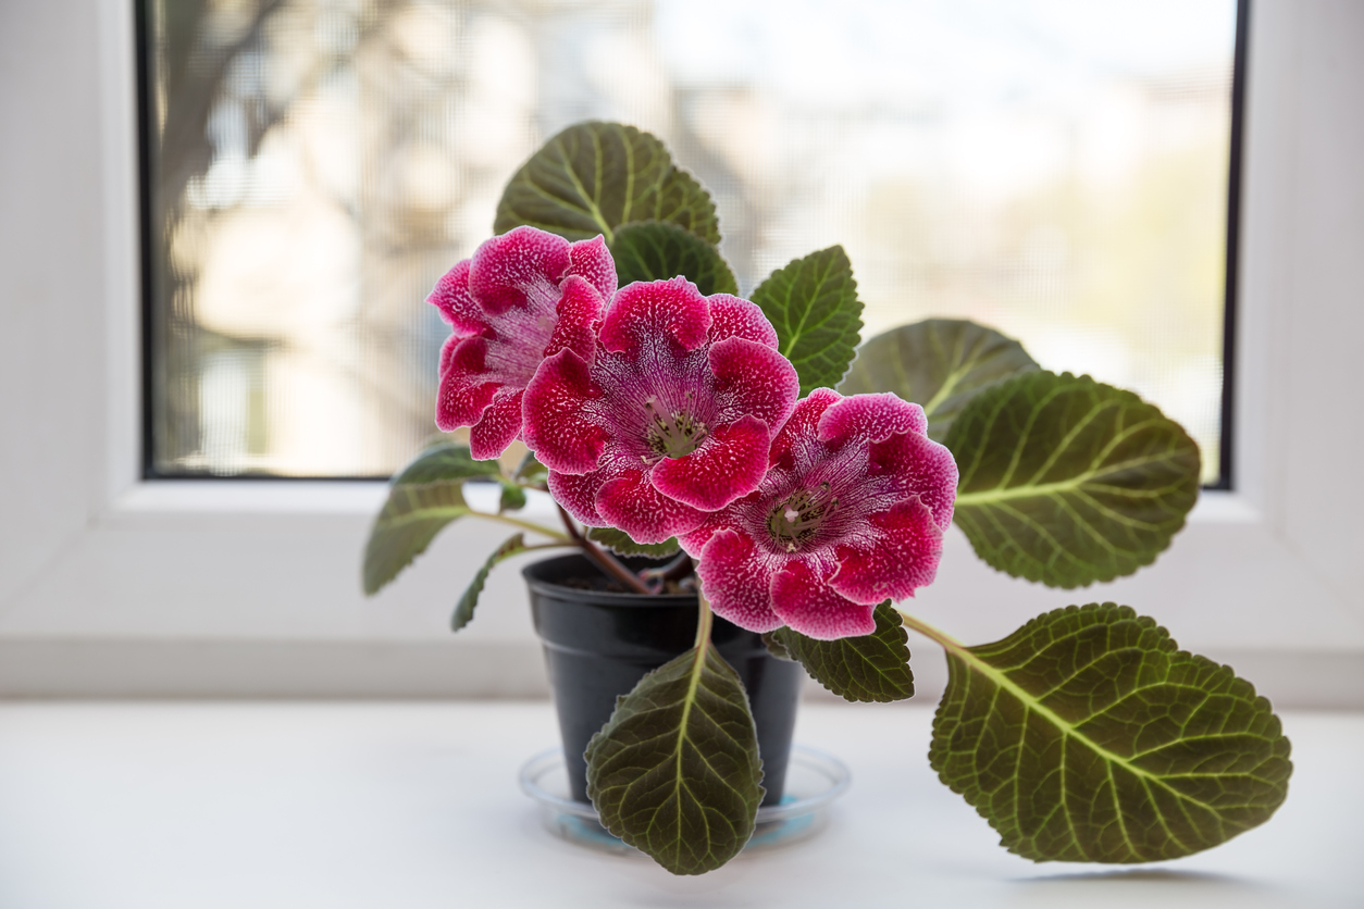
{"type": "Polygon", "coordinates": [[[926,428],[892,394],[801,401],[757,492],[681,537],[716,615],[832,641],[872,634],[876,604],[932,582],[958,474],[926,428]]]}

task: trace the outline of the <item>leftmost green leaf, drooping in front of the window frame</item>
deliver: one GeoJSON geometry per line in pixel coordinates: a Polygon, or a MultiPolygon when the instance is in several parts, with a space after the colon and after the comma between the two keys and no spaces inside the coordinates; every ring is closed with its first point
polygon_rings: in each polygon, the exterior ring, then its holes
{"type": "Polygon", "coordinates": [[[374,519],[364,546],[363,583],[375,594],[451,521],[469,514],[464,481],[496,477],[496,461],[475,461],[466,446],[441,442],[416,457],[393,478],[389,500],[374,519]]]}

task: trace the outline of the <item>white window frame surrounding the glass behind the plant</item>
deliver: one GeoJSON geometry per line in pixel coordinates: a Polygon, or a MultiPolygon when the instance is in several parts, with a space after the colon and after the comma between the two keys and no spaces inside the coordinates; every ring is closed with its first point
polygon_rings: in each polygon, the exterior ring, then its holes
{"type": "MultiPolygon", "coordinates": [[[[1361,707],[1364,5],[1251,15],[1234,491],[1080,591],[998,575],[953,531],[918,606],[986,641],[1127,602],[1279,703],[1361,707]]],[[[510,567],[446,630],[496,529],[456,525],[367,601],[382,484],[140,478],[134,46],[127,0],[0,11],[0,694],[543,694],[510,567]]],[[[940,664],[918,661],[922,691],[940,664]]]]}

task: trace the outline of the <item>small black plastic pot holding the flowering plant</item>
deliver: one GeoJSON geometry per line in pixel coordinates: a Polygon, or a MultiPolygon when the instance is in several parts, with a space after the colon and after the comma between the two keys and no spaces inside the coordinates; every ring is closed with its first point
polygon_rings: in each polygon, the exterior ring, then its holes
{"type": "MultiPolygon", "coordinates": [[[[521,574],[531,587],[535,630],[544,642],[569,786],[574,799],[587,801],[582,752],[588,740],[611,718],[617,696],[629,694],[645,673],[692,649],[696,596],[611,593],[602,589],[602,572],[581,555],[546,559],[527,566],[521,574]]],[[[762,635],[719,616],[711,641],[749,692],[767,789],[762,804],[777,804],[786,785],[805,671],[769,654],[762,635]]]]}

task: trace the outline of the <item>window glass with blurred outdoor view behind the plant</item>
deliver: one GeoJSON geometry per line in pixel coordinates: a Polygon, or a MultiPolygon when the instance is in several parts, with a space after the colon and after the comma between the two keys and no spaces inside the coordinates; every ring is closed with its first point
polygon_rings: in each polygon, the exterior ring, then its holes
{"type": "Polygon", "coordinates": [[[1232,0],[151,0],[149,469],[383,476],[423,300],[582,120],[657,134],[742,290],[840,243],[863,337],[993,324],[1219,476],[1232,0]]]}

